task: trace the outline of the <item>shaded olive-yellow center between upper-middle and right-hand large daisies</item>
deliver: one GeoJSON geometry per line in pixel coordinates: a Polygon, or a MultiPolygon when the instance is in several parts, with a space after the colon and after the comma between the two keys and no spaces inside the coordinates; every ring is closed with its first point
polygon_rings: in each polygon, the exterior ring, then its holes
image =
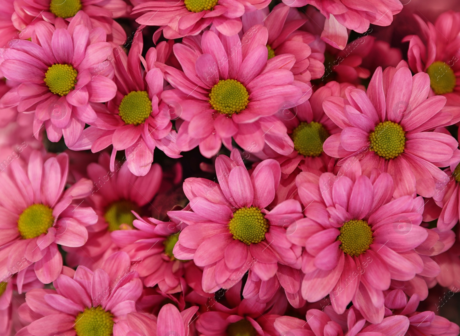
{"type": "Polygon", "coordinates": [[[291,135],[295,150],[305,156],[321,155],[322,145],[328,137],[328,131],[319,122],[301,122],[291,135]]]}

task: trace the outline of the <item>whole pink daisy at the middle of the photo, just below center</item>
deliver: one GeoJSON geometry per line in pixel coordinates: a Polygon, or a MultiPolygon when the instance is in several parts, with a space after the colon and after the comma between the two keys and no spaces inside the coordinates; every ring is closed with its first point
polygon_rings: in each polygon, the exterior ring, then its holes
{"type": "Polygon", "coordinates": [[[184,181],[193,211],[170,211],[169,217],[189,226],[179,234],[173,254],[204,267],[202,286],[207,293],[230,288],[251,269],[262,280],[275,276],[278,263],[293,265],[300,246],[286,238],[286,227],[303,217],[297,200],[270,205],[280,184],[281,169],[264,160],[250,175],[242,157],[216,159],[219,184],[201,178],[184,181]]]}

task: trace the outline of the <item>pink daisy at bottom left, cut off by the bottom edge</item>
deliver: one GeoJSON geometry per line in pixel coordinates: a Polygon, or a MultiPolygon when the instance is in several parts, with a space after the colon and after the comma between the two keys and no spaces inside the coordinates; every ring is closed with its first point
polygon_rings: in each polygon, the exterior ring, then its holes
{"type": "Polygon", "coordinates": [[[117,252],[94,272],[84,266],[66,267],[53,282],[56,290],[35,289],[19,308],[29,323],[21,335],[110,336],[114,325],[136,311],[142,281],[129,257],[117,252]]]}

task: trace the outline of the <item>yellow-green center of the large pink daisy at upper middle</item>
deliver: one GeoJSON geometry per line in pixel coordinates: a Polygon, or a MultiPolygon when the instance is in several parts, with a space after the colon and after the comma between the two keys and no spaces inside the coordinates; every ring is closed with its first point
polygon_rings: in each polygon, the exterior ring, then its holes
{"type": "Polygon", "coordinates": [[[246,87],[234,79],[220,80],[209,93],[209,103],[213,109],[230,116],[246,109],[248,98],[246,87]]]}

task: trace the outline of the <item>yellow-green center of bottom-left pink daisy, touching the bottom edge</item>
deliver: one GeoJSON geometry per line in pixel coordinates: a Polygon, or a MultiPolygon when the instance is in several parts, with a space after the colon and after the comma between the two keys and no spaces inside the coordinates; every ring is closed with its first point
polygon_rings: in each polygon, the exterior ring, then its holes
{"type": "Polygon", "coordinates": [[[114,316],[101,306],[85,308],[75,318],[74,329],[77,336],[111,336],[114,316]]]}

